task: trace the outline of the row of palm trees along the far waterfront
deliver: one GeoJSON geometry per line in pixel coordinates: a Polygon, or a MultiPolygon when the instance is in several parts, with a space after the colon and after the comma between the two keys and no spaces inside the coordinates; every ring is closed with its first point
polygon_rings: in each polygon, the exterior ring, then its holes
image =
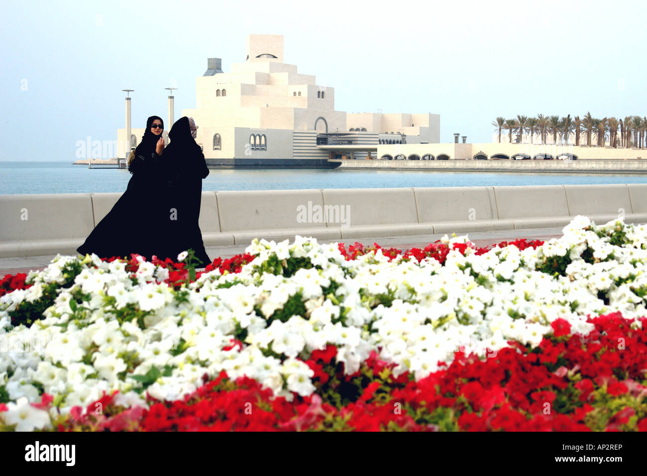
{"type": "MultiPolygon", "coordinates": [[[[643,148],[647,142],[647,117],[627,116],[624,119],[605,117],[596,119],[591,113],[586,113],[581,119],[579,116],[571,118],[545,116],[538,114],[537,117],[526,117],[518,115],[516,119],[505,119],[497,117],[492,121],[492,126],[499,131],[499,143],[501,142],[501,131],[508,131],[508,140],[512,143],[512,133],[517,137],[523,137],[523,133],[530,135],[530,142],[533,143],[534,135],[540,136],[541,143],[546,143],[546,138],[552,136],[553,144],[560,142],[567,144],[569,136],[575,133],[575,145],[580,145],[580,137],[586,137],[586,145],[591,146],[595,139],[598,146],[602,147],[609,142],[611,147],[617,148],[637,147],[643,148]],[[618,131],[620,130],[620,135],[618,131]]],[[[583,144],[582,144],[583,145],[583,144]]]]}

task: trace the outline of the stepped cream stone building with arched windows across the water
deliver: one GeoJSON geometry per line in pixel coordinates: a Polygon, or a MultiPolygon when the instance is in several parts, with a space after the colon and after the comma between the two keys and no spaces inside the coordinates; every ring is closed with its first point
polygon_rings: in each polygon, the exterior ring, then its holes
{"type": "MultiPolygon", "coordinates": [[[[318,144],[439,141],[439,115],[336,111],[334,87],[283,62],[282,35],[248,35],[245,62],[229,73],[219,72],[220,63],[210,58],[197,78],[196,107],[181,113],[199,126],[196,141],[210,165],[329,166],[331,155],[318,144]]],[[[137,143],[142,133],[133,129],[137,143]]],[[[120,144],[125,139],[119,130],[120,144]]]]}

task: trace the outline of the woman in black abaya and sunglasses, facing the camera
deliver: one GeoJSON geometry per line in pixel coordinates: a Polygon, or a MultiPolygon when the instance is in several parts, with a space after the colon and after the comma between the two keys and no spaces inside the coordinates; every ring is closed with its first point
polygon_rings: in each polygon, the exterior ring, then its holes
{"type": "Polygon", "coordinates": [[[133,176],[126,192],[76,251],[82,255],[94,253],[100,258],[127,257],[131,253],[148,259],[153,255],[166,258],[161,236],[166,214],[160,201],[167,188],[160,161],[164,150],[163,130],[164,121],[160,117],[148,118],[142,141],[128,163],[133,176]]]}

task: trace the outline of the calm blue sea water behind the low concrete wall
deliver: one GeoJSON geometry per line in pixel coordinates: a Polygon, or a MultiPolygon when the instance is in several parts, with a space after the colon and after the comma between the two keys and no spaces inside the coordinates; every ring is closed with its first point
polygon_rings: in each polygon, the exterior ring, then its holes
{"type": "MultiPolygon", "coordinates": [[[[127,170],[69,162],[0,162],[0,194],[123,192],[127,170]]],[[[483,185],[575,185],[647,183],[645,175],[471,174],[384,170],[211,170],[203,190],[299,188],[474,187],[483,185]]]]}

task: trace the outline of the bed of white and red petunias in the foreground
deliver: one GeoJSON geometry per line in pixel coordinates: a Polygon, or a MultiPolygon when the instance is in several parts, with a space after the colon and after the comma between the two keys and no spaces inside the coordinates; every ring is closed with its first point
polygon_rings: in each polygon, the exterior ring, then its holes
{"type": "Polygon", "coordinates": [[[203,273],[58,256],[0,283],[0,422],[643,429],[646,248],[577,217],[491,249],[255,241],[203,273]]]}

